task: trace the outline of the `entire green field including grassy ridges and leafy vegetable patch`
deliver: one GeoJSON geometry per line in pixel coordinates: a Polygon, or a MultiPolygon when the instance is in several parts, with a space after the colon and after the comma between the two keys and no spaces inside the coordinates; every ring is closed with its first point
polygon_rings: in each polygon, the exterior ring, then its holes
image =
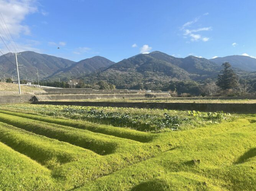
{"type": "Polygon", "coordinates": [[[0,190],[255,190],[255,140],[256,115],[0,105],[0,190]]]}

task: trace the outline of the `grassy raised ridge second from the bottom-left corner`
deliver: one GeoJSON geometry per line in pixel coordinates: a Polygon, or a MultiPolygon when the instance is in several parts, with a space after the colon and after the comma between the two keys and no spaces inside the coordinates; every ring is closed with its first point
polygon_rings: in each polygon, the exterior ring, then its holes
{"type": "Polygon", "coordinates": [[[48,168],[74,161],[79,157],[97,157],[92,151],[39,136],[2,122],[0,122],[0,141],[48,168]]]}

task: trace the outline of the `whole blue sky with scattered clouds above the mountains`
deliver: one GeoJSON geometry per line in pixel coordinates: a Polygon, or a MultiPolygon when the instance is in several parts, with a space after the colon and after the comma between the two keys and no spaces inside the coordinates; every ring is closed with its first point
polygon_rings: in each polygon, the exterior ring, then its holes
{"type": "MultiPolygon", "coordinates": [[[[256,57],[255,10],[255,0],[0,0],[20,51],[74,61],[100,55],[118,62],[156,50],[256,57]]],[[[0,49],[8,52],[3,43],[0,49]]]]}

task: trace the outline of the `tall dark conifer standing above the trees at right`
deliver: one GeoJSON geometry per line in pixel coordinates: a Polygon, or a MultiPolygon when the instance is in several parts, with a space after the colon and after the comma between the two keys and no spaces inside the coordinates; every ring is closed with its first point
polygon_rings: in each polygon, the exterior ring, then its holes
{"type": "Polygon", "coordinates": [[[237,76],[231,69],[231,65],[228,62],[222,64],[223,70],[218,74],[218,79],[216,85],[221,89],[231,89],[235,87],[237,76]]]}

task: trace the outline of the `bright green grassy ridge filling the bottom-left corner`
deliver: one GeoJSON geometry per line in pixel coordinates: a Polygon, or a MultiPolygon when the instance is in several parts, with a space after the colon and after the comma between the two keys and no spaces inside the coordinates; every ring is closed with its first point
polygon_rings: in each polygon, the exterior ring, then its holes
{"type": "Polygon", "coordinates": [[[1,190],[57,190],[51,171],[0,142],[1,190]]]}

